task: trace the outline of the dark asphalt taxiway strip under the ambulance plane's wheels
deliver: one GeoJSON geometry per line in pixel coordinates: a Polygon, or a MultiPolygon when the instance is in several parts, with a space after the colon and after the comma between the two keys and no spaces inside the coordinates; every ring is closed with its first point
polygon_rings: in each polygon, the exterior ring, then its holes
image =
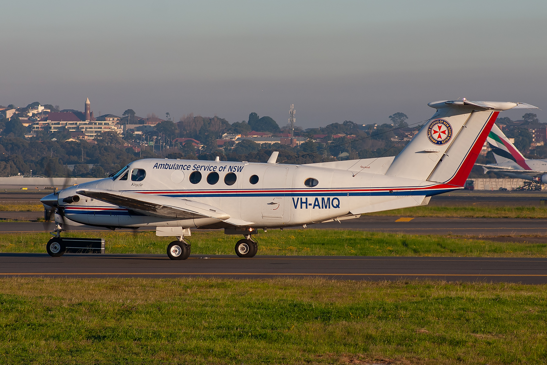
{"type": "Polygon", "coordinates": [[[0,253],[0,277],[324,277],[547,283],[545,258],[192,255],[173,261],[152,254],[0,253]]]}

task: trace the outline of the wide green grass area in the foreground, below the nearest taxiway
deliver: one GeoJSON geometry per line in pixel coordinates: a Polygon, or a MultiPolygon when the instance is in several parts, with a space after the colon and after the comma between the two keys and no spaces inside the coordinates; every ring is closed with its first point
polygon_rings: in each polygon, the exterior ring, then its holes
{"type": "Polygon", "coordinates": [[[547,286],[0,279],[0,363],[544,364],[547,286]]]}

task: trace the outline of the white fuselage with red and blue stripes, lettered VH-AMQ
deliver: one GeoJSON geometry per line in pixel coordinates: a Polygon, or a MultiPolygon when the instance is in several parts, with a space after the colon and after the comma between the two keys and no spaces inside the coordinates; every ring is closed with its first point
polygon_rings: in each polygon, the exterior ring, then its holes
{"type": "MultiPolygon", "coordinates": [[[[427,204],[425,198],[429,196],[461,188],[386,176],[388,164],[370,165],[356,173],[313,165],[145,159],[129,164],[125,179],[122,172],[114,179],[79,184],[62,190],[58,200],[66,218],[101,227],[226,228],[229,225],[207,219],[147,216],[86,196],[71,203],[63,199],[85,188],[155,194],[218,207],[230,217],[247,222],[245,225],[249,227],[280,228],[427,204]],[[135,169],[146,171],[146,177],[132,181],[135,169]]],[[[56,216],[56,219],[62,218],[56,216]]]]}

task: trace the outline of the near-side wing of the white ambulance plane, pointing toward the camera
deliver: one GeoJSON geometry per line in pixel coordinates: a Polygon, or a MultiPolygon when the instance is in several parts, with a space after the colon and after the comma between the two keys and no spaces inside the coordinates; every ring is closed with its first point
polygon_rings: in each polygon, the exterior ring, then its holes
{"type": "Polygon", "coordinates": [[[230,218],[228,213],[217,207],[189,199],[100,189],[81,189],[76,193],[147,216],[173,219],[216,218],[220,221],[230,218]]]}

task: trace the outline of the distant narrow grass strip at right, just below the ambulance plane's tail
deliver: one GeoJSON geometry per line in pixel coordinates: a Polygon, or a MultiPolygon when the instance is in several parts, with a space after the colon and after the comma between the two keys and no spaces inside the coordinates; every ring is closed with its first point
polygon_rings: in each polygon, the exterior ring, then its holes
{"type": "Polygon", "coordinates": [[[398,217],[468,217],[468,218],[547,218],[543,206],[418,206],[367,213],[371,216],[398,217]]]}

